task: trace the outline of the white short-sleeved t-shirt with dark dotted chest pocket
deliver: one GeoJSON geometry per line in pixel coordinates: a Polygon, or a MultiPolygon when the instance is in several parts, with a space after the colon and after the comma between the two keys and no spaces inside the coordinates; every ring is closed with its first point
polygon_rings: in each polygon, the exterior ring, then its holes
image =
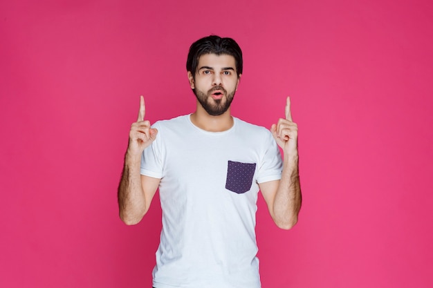
{"type": "Polygon", "coordinates": [[[212,133],[190,115],[156,122],[141,174],[160,178],[163,229],[157,288],[259,288],[258,183],[279,180],[282,157],[268,129],[234,118],[212,133]]]}

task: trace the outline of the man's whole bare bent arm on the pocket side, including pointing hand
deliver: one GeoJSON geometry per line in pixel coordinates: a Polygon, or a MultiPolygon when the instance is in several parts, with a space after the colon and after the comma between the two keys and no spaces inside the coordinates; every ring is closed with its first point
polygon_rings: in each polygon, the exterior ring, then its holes
{"type": "Polygon", "coordinates": [[[301,209],[302,194],[297,152],[297,124],[291,116],[291,102],[287,97],[286,119],[279,119],[270,132],[283,151],[283,171],[281,180],[259,184],[269,213],[275,224],[282,229],[291,229],[297,223],[301,209]]]}

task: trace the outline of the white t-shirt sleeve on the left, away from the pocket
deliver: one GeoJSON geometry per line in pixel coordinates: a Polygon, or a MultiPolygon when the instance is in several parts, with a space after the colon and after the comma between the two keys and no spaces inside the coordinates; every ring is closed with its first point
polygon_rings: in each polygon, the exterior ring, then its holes
{"type": "Polygon", "coordinates": [[[158,134],[154,142],[145,148],[141,155],[140,174],[161,179],[163,177],[163,161],[161,155],[161,134],[163,134],[163,131],[161,131],[162,129],[160,125],[158,125],[158,122],[156,122],[152,128],[157,128],[158,134]]]}

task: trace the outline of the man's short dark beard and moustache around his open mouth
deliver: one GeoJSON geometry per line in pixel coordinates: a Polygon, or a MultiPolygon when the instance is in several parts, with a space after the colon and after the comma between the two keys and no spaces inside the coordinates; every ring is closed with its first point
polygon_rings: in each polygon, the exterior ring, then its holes
{"type": "Polygon", "coordinates": [[[228,94],[227,90],[221,86],[216,86],[210,89],[208,93],[204,93],[197,88],[193,89],[192,91],[194,92],[194,95],[196,95],[196,98],[199,100],[201,106],[211,116],[219,116],[225,113],[225,111],[227,111],[230,107],[230,104],[232,104],[234,93],[236,92],[236,90],[234,90],[232,93],[228,94]],[[216,90],[221,90],[225,97],[222,97],[221,99],[213,99],[210,95],[212,95],[212,93],[214,93],[216,90]]]}

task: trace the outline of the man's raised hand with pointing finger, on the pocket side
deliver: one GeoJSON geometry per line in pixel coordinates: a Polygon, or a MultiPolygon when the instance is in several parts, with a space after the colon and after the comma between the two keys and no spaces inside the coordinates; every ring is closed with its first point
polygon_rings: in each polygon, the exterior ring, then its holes
{"type": "Polygon", "coordinates": [[[278,124],[270,127],[270,132],[284,152],[297,152],[297,124],[292,119],[290,97],[287,97],[285,114],[286,119],[280,118],[278,124]]]}

